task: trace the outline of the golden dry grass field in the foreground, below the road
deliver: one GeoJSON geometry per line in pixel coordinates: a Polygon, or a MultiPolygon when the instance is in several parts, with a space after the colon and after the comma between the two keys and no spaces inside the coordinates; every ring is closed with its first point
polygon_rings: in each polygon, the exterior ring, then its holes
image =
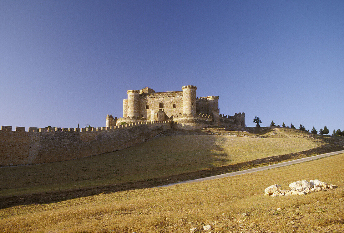
{"type": "Polygon", "coordinates": [[[1,209],[0,232],[190,232],[194,227],[204,232],[203,225],[211,225],[212,232],[344,232],[343,198],[344,154],[339,154],[192,184],[1,209]],[[339,188],[264,196],[272,184],[287,189],[303,179],[339,188]]]}

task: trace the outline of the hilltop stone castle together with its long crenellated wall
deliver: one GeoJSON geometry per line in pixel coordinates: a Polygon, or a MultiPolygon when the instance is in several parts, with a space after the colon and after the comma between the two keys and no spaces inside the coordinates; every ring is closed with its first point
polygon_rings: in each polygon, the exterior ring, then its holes
{"type": "Polygon", "coordinates": [[[127,91],[123,117],[107,115],[106,127],[60,128],[1,126],[0,166],[57,162],[128,148],[167,129],[224,126],[241,129],[245,114],[219,114],[218,96],[196,98],[196,86],[155,92],[127,91]]]}

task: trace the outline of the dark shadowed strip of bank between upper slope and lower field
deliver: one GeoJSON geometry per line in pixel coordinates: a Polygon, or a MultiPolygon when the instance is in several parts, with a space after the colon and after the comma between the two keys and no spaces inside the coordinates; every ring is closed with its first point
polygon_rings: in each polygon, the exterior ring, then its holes
{"type": "Polygon", "coordinates": [[[0,208],[8,208],[19,205],[32,205],[32,204],[47,204],[54,203],[63,200],[93,196],[101,193],[114,193],[123,190],[133,190],[141,188],[151,188],[165,184],[176,183],[184,180],[203,178],[207,176],[214,176],[229,172],[235,172],[240,170],[246,170],[253,167],[265,166],[277,162],[283,162],[293,159],[300,159],[308,157],[315,154],[327,153],[342,150],[342,145],[322,145],[321,147],[310,149],[307,151],[302,151],[298,153],[291,153],[285,155],[271,156],[263,159],[256,159],[252,161],[247,161],[243,163],[237,163],[228,166],[209,168],[206,170],[183,173],[178,175],[171,175],[161,178],[154,178],[148,180],[142,180],[137,182],[128,182],[125,184],[111,185],[111,186],[101,186],[101,187],[91,187],[75,190],[65,190],[58,192],[46,192],[39,194],[29,194],[21,196],[10,196],[10,197],[0,197],[0,208]],[[22,198],[22,199],[21,199],[22,198]]]}

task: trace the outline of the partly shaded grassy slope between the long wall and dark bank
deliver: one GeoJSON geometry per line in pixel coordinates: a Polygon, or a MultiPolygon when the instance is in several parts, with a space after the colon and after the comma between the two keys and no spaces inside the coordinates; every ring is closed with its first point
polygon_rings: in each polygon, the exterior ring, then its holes
{"type": "Polygon", "coordinates": [[[280,138],[245,133],[245,137],[163,136],[125,150],[72,161],[1,167],[0,196],[136,182],[305,151],[321,144],[309,138],[286,137],[285,133],[279,133],[280,138]]]}

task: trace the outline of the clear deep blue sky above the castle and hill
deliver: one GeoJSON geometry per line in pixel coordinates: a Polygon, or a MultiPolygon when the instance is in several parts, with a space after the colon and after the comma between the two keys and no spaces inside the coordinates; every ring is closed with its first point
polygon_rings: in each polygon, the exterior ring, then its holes
{"type": "MultiPolygon", "coordinates": [[[[127,90],[344,129],[344,1],[0,1],[0,125],[105,126],[127,90]]],[[[28,128],[26,128],[28,130],[28,128]]]]}

